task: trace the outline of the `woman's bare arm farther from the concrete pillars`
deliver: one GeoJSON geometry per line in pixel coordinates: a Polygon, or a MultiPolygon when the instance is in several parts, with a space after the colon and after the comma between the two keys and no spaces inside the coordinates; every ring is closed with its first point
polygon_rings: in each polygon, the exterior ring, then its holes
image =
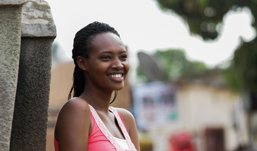
{"type": "Polygon", "coordinates": [[[122,116],[122,119],[124,121],[124,124],[125,124],[125,127],[126,127],[128,133],[129,133],[129,137],[130,137],[132,143],[134,144],[137,151],[140,151],[139,139],[138,139],[137,128],[136,128],[134,116],[129,111],[127,111],[123,108],[116,108],[116,109],[122,116]]]}

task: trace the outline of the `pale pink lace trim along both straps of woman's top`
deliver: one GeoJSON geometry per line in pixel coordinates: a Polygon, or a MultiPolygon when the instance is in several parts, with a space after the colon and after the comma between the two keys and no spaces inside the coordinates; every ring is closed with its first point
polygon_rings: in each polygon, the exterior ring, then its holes
{"type": "MultiPolygon", "coordinates": [[[[88,104],[89,105],[89,104],[88,104]]],[[[112,143],[112,145],[116,148],[117,151],[125,151],[125,149],[123,149],[114,139],[114,137],[112,136],[112,134],[109,132],[109,130],[105,127],[104,123],[102,122],[101,118],[98,116],[98,114],[96,113],[95,109],[89,105],[90,110],[93,114],[93,117],[95,119],[95,122],[97,124],[97,126],[99,127],[99,129],[102,131],[102,133],[105,135],[105,137],[112,143]]],[[[113,107],[109,107],[109,110],[114,114],[115,118],[118,121],[118,125],[120,127],[120,129],[122,130],[122,133],[129,145],[129,150],[130,151],[136,151],[134,144],[131,142],[129,134],[127,132],[127,130],[125,129],[120,116],[118,115],[118,112],[115,110],[115,108],[113,107]]]]}

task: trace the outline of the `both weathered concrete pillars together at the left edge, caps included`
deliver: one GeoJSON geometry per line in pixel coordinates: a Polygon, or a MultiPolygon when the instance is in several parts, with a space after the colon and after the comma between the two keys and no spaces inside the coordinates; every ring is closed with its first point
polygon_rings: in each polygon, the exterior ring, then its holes
{"type": "Polygon", "coordinates": [[[0,150],[45,150],[56,28],[42,0],[0,0],[0,150]]]}

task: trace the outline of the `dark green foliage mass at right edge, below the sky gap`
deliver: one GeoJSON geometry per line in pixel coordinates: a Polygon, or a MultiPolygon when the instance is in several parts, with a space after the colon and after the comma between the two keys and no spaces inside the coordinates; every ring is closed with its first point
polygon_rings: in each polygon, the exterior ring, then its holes
{"type": "Polygon", "coordinates": [[[233,90],[257,93],[257,38],[243,43],[225,70],[226,79],[233,90]]]}

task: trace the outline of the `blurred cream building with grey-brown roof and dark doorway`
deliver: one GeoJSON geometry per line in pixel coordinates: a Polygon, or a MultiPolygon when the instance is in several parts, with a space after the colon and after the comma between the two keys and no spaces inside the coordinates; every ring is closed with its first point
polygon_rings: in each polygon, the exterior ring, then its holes
{"type": "Polygon", "coordinates": [[[242,98],[226,87],[221,72],[179,81],[177,99],[181,102],[183,127],[199,138],[199,149],[222,151],[246,145],[242,98]],[[233,118],[236,107],[241,116],[237,131],[233,118]]]}

